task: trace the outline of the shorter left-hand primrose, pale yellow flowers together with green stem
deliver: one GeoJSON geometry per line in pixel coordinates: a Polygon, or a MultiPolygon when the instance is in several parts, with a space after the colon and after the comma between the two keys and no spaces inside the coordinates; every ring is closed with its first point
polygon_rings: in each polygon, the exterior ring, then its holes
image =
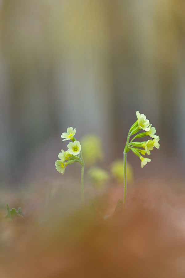
{"type": "Polygon", "coordinates": [[[64,138],[62,141],[71,140],[67,147],[68,150],[65,152],[64,150],[61,150],[62,152],[58,154],[59,160],[55,162],[55,166],[58,172],[60,172],[62,175],[65,172],[66,166],[73,164],[74,162],[79,162],[82,166],[81,171],[81,197],[82,197],[82,216],[85,216],[85,202],[84,202],[84,161],[82,156],[82,150],[80,142],[77,141],[74,138],[74,135],[76,133],[76,129],[69,127],[67,128],[67,132],[62,133],[61,137],[64,138]],[[67,161],[67,162],[65,162],[67,161]]]}

